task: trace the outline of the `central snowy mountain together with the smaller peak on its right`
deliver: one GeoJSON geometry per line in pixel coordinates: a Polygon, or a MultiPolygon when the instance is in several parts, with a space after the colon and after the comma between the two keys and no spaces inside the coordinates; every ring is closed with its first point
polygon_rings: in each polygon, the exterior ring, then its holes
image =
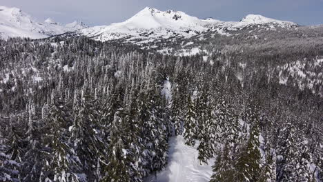
{"type": "Polygon", "coordinates": [[[168,39],[173,37],[189,38],[203,32],[213,31],[226,34],[223,30],[239,30],[253,25],[270,25],[282,28],[292,28],[296,23],[279,21],[250,14],[240,22],[219,21],[216,19],[198,19],[184,12],[155,8],[144,8],[135,16],[121,23],[110,26],[95,26],[77,31],[99,41],[113,39],[168,39]]]}

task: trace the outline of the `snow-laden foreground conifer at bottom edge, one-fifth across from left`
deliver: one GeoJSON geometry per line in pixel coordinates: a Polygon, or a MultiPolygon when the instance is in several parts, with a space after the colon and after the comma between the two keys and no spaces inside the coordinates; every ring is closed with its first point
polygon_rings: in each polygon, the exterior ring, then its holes
{"type": "Polygon", "coordinates": [[[69,142],[68,127],[72,124],[67,113],[66,103],[52,95],[47,121],[48,137],[45,145],[51,149],[44,166],[47,180],[63,182],[78,181],[77,174],[81,171],[81,161],[72,144],[69,142]]]}

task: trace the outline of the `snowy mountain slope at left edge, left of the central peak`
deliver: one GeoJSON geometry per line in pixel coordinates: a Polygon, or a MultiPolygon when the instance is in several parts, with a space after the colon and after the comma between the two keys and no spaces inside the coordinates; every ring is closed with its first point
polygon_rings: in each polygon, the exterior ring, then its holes
{"type": "Polygon", "coordinates": [[[2,39],[8,39],[9,37],[40,39],[79,30],[80,28],[86,28],[86,26],[77,22],[62,26],[52,19],[46,19],[41,23],[19,8],[0,6],[0,38],[2,39]]]}

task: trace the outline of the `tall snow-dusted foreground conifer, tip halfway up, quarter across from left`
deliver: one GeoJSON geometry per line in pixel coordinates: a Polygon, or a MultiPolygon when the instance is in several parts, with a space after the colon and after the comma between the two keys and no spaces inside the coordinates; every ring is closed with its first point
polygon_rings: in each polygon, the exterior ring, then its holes
{"type": "MultiPolygon", "coordinates": [[[[76,93],[77,94],[77,93],[76,93]]],[[[75,153],[82,164],[82,172],[88,179],[97,177],[92,171],[97,171],[97,161],[105,161],[105,145],[101,138],[101,125],[99,116],[94,110],[95,99],[88,92],[86,85],[79,96],[75,96],[73,121],[69,130],[71,132],[70,143],[74,145],[75,153]]]]}

